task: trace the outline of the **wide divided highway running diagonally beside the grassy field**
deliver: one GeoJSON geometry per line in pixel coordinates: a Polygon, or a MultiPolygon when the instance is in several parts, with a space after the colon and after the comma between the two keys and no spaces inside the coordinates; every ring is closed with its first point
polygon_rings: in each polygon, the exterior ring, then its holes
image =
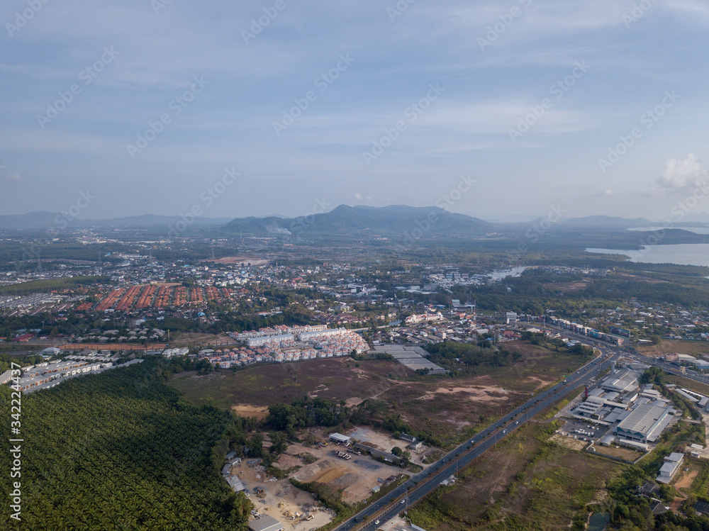
{"type": "Polygon", "coordinates": [[[610,367],[610,361],[618,359],[620,352],[610,346],[599,345],[601,356],[596,357],[578,371],[567,376],[559,382],[531,398],[526,403],[518,406],[496,423],[489,425],[469,440],[459,445],[445,457],[432,464],[420,474],[412,476],[406,483],[387,493],[373,505],[364,508],[350,519],[335,527],[336,531],[374,531],[379,524],[393,518],[396,514],[406,510],[408,505],[419,501],[428,495],[441,482],[456,474],[473,459],[486,452],[487,449],[497,444],[499,440],[510,435],[511,432],[526,423],[530,418],[545,408],[552,406],[579,386],[588,384],[591,379],[598,376],[603,369],[610,367]],[[408,491],[408,496],[407,496],[408,491]],[[365,520],[366,518],[366,520],[365,520]],[[364,521],[363,521],[364,520],[364,521]],[[379,524],[377,523],[379,522],[379,524]]]}

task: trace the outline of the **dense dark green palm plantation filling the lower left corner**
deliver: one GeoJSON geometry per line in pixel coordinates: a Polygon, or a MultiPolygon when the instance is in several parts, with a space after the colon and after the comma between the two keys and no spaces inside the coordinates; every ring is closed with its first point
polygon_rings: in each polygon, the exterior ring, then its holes
{"type": "MultiPolygon", "coordinates": [[[[17,529],[247,528],[252,505],[219,467],[248,421],[184,401],[164,384],[166,365],[146,359],[22,397],[17,529]]],[[[10,393],[0,388],[4,418],[10,393]]],[[[3,452],[2,469],[10,460],[3,452]]]]}

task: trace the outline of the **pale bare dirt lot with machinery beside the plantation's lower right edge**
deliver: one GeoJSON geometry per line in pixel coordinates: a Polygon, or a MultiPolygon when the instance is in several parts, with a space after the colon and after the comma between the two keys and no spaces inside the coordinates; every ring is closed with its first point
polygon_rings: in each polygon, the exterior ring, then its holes
{"type": "Polygon", "coordinates": [[[276,518],[286,531],[311,531],[335,518],[334,513],[317,503],[311,493],[294,487],[287,479],[266,481],[264,471],[250,466],[248,461],[233,470],[246,487],[250,500],[256,505],[259,513],[276,518]],[[256,496],[254,487],[263,488],[265,495],[256,496]],[[301,516],[293,520],[296,513],[301,516]],[[314,515],[312,520],[303,519],[304,515],[311,514],[314,515]]]}

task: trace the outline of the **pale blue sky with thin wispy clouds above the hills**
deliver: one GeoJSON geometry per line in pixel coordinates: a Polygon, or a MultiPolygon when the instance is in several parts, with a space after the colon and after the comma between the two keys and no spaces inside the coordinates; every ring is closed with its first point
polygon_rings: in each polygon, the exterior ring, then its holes
{"type": "Polygon", "coordinates": [[[705,0],[6,0],[0,22],[0,214],[709,216],[705,0]]]}

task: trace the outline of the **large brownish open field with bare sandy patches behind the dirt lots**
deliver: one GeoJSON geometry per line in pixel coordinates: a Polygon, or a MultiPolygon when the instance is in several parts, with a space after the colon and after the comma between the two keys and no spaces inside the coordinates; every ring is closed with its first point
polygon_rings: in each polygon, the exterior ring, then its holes
{"type": "Polygon", "coordinates": [[[387,415],[401,415],[413,430],[449,437],[489,423],[583,363],[571,354],[521,341],[510,341],[506,348],[520,352],[520,362],[507,367],[480,367],[481,374],[456,378],[419,376],[389,360],[356,364],[350,357],[343,357],[255,365],[243,371],[214,371],[204,376],[176,375],[172,385],[193,403],[225,409],[236,405],[263,408],[306,395],[344,400],[349,407],[369,398],[381,403],[387,415]]]}

